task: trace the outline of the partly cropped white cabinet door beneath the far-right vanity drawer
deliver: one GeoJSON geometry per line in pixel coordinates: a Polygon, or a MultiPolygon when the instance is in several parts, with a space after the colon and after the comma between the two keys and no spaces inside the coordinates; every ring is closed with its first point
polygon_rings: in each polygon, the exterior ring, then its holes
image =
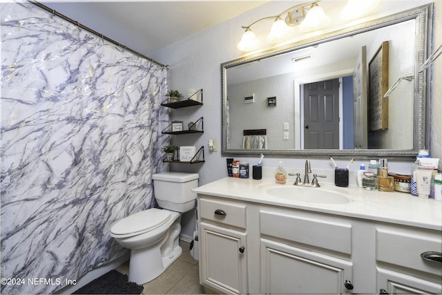
{"type": "Polygon", "coordinates": [[[377,268],[378,291],[388,294],[441,294],[442,286],[414,276],[377,268]]]}

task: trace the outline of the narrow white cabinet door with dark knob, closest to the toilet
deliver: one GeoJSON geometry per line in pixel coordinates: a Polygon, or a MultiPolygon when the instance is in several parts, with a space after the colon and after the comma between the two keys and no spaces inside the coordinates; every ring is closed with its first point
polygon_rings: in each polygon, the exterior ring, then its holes
{"type": "Polygon", "coordinates": [[[202,284],[226,294],[247,294],[246,234],[200,224],[202,284]]]}

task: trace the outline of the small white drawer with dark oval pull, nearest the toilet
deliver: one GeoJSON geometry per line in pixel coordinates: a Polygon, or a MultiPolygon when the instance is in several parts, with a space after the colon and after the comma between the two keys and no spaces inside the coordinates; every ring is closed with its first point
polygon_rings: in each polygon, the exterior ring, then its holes
{"type": "Polygon", "coordinates": [[[200,198],[198,210],[201,218],[242,229],[246,228],[246,206],[244,204],[200,198]]]}

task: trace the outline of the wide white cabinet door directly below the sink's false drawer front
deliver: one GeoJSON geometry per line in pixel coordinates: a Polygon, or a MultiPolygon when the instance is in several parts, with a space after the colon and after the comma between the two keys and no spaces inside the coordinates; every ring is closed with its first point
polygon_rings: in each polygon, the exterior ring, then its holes
{"type": "Polygon", "coordinates": [[[352,289],[347,260],[261,239],[261,263],[264,294],[343,294],[352,289]]]}

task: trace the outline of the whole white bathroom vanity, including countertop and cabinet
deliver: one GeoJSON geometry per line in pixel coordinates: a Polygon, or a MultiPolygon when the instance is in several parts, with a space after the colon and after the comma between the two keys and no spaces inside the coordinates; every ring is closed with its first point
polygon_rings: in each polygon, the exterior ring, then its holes
{"type": "Polygon", "coordinates": [[[442,202],[321,183],[197,189],[200,283],[226,294],[441,293],[442,202]]]}

